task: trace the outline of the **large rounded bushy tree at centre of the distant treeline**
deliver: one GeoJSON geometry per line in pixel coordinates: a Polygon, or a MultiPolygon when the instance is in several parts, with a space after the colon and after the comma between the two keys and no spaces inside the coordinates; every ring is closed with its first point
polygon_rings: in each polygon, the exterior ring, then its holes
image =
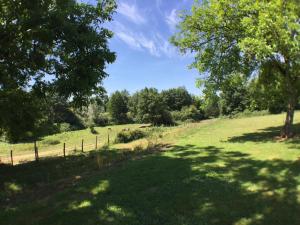
{"type": "Polygon", "coordinates": [[[145,88],[130,99],[130,113],[139,123],[170,125],[173,123],[170,112],[162,96],[155,88],[145,88]]]}

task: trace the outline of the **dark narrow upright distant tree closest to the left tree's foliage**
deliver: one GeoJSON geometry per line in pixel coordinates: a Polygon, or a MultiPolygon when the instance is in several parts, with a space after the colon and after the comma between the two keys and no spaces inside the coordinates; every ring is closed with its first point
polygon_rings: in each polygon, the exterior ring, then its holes
{"type": "Polygon", "coordinates": [[[108,101],[108,112],[116,124],[124,124],[128,122],[128,101],[129,93],[124,90],[122,92],[114,92],[108,101]]]}

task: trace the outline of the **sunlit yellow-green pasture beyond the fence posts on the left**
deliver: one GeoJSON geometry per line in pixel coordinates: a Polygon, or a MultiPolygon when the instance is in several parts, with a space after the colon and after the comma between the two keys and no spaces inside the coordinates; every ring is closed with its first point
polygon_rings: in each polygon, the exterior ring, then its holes
{"type": "MultiPolygon", "coordinates": [[[[74,150],[81,151],[81,142],[84,140],[84,150],[91,151],[95,149],[96,136],[97,147],[102,147],[108,142],[108,133],[110,142],[116,137],[116,134],[122,129],[136,129],[140,124],[116,125],[111,127],[95,127],[96,133],[92,133],[90,129],[64,132],[41,138],[37,141],[40,156],[58,156],[63,154],[63,143],[66,143],[66,153],[73,154],[74,150]],[[111,130],[108,130],[111,128],[111,130]]],[[[0,158],[4,162],[10,162],[10,150],[13,150],[15,163],[22,161],[34,160],[34,144],[33,142],[9,144],[0,142],[0,158]]]]}

